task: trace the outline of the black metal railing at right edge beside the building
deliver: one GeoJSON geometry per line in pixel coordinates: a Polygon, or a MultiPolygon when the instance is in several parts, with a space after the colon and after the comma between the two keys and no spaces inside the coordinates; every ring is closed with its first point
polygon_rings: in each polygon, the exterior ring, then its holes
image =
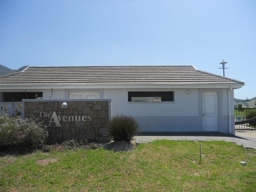
{"type": "Polygon", "coordinates": [[[235,129],[256,131],[256,108],[235,108],[235,129]]]}

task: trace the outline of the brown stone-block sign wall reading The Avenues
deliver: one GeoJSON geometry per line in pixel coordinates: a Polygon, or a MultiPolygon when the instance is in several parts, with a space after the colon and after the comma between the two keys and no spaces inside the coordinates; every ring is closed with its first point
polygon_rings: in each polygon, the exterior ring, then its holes
{"type": "Polygon", "coordinates": [[[111,99],[22,100],[24,117],[35,116],[48,126],[50,143],[70,139],[108,141],[104,136],[111,118],[111,99]],[[67,106],[62,106],[66,102],[67,106]]]}

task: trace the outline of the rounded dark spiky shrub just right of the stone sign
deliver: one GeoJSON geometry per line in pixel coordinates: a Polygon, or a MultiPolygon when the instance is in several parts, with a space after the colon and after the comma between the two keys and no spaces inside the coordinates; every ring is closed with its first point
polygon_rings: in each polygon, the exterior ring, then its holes
{"type": "Polygon", "coordinates": [[[106,128],[106,134],[114,141],[130,141],[138,133],[138,122],[132,116],[124,114],[112,117],[106,128]]]}

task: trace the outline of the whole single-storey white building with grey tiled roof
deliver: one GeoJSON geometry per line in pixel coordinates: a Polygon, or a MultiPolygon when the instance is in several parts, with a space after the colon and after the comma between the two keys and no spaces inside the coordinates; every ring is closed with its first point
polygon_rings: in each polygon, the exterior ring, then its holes
{"type": "Polygon", "coordinates": [[[133,116],[142,132],[234,134],[234,89],[242,86],[194,66],[29,67],[0,77],[0,105],[36,97],[111,98],[112,116],[133,116]]]}

